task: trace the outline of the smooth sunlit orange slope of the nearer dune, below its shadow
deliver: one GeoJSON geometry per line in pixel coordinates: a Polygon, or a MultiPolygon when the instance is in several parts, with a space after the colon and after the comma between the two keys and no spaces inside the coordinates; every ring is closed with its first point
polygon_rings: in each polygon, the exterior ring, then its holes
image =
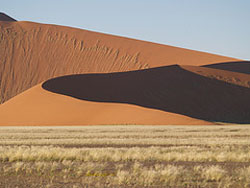
{"type": "Polygon", "coordinates": [[[131,104],[100,103],[55,94],[37,85],[0,106],[0,126],[211,125],[131,104]]]}

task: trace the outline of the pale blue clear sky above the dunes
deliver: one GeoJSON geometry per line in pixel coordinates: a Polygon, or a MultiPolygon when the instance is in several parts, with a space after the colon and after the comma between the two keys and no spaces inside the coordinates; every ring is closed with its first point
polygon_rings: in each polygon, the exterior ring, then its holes
{"type": "Polygon", "coordinates": [[[0,0],[0,12],[250,60],[250,0],[0,0]]]}

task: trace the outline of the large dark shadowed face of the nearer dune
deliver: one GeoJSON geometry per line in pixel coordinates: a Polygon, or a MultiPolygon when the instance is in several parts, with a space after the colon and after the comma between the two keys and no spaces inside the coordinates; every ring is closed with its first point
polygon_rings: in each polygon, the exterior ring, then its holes
{"type": "Polygon", "coordinates": [[[77,99],[135,104],[190,117],[250,123],[250,89],[167,66],[57,77],[42,87],[77,99]]]}

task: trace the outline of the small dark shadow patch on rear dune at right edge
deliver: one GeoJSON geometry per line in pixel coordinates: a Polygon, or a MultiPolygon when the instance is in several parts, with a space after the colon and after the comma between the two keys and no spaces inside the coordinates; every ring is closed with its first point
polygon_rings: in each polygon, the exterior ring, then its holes
{"type": "Polygon", "coordinates": [[[216,63],[216,64],[205,65],[203,67],[250,74],[250,61],[216,63]]]}

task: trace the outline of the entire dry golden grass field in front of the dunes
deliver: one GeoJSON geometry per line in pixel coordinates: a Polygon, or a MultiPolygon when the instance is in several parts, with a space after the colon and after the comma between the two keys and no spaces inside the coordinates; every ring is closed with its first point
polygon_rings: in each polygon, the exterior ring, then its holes
{"type": "Polygon", "coordinates": [[[0,127],[0,187],[250,187],[250,126],[0,127]]]}

